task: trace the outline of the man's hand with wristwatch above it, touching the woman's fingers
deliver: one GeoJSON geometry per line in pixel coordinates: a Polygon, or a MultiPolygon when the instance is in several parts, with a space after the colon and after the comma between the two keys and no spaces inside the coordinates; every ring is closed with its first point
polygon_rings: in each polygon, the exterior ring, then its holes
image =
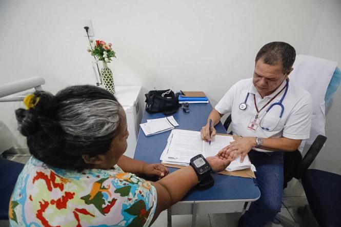
{"type": "Polygon", "coordinates": [[[255,146],[255,137],[235,137],[229,146],[218,152],[220,155],[227,155],[231,160],[236,159],[240,155],[240,162],[244,161],[245,156],[255,146]]]}

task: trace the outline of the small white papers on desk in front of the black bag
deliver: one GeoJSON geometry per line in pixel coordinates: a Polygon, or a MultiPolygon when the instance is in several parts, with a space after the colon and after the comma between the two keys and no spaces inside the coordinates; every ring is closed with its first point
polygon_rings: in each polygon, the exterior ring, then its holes
{"type": "Polygon", "coordinates": [[[142,131],[146,136],[155,135],[174,129],[179,124],[173,116],[148,119],[146,123],[140,124],[142,131]]]}

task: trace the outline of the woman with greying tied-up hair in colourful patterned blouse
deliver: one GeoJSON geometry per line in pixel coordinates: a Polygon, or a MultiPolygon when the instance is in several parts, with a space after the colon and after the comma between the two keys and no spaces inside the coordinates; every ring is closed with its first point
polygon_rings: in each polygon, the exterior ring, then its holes
{"type": "MultiPolygon", "coordinates": [[[[24,103],[15,114],[32,157],[10,200],[12,226],[149,226],[198,183],[190,166],[168,174],[161,163],[124,156],[126,115],[104,89],[36,91],[24,103]]],[[[215,172],[230,163],[207,161],[215,172]]]]}

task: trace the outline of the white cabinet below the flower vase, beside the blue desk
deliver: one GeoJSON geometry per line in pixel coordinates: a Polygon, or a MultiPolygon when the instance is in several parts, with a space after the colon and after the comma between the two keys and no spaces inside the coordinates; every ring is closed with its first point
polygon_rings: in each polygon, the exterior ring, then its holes
{"type": "Polygon", "coordinates": [[[127,115],[128,148],[124,153],[133,158],[135,153],[139,124],[144,111],[144,99],[141,86],[115,86],[115,97],[127,115]]]}

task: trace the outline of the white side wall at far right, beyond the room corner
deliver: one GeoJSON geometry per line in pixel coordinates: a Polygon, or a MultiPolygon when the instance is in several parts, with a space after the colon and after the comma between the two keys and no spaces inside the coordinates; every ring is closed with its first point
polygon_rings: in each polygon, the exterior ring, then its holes
{"type": "MultiPolygon", "coordinates": [[[[338,68],[341,68],[341,1],[326,2],[307,54],[335,60],[338,62],[338,68]]],[[[338,174],[341,174],[340,87],[334,94],[331,108],[326,114],[326,145],[312,164],[312,168],[338,174]]]]}

